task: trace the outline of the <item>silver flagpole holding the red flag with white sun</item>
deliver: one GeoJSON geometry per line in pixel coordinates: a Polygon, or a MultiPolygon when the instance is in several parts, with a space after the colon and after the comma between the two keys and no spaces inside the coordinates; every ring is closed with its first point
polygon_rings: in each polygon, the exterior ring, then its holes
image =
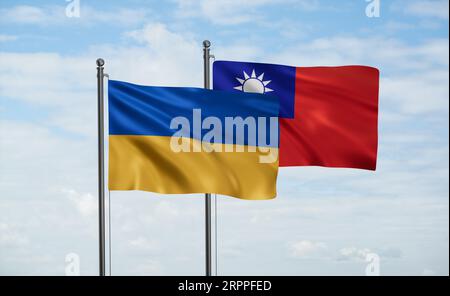
{"type": "MultiPolygon", "coordinates": [[[[210,54],[209,47],[211,42],[209,40],[203,41],[203,77],[204,87],[210,88],[210,54]]],[[[205,242],[206,242],[206,276],[212,275],[212,255],[211,255],[211,193],[205,194],[205,242]]]]}

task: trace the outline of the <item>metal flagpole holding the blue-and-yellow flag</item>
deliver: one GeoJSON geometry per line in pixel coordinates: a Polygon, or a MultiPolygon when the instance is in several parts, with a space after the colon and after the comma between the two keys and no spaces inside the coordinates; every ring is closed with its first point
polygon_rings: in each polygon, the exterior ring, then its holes
{"type": "Polygon", "coordinates": [[[98,226],[99,226],[99,275],[105,276],[105,155],[104,155],[104,116],[103,116],[103,59],[97,59],[98,96],[98,226]]]}

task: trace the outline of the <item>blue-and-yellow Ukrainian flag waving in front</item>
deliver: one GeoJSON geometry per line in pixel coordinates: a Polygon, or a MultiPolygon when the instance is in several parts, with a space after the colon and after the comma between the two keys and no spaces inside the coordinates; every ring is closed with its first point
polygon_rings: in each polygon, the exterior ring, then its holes
{"type": "Polygon", "coordinates": [[[109,189],[276,196],[277,97],[110,80],[109,189]]]}

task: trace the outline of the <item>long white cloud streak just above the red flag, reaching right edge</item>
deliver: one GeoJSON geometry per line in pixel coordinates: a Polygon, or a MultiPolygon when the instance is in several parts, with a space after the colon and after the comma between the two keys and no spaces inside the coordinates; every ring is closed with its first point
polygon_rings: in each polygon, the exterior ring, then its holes
{"type": "Polygon", "coordinates": [[[297,66],[317,65],[373,65],[384,72],[427,70],[447,66],[449,46],[447,39],[431,39],[409,45],[399,39],[339,36],[317,38],[285,48],[271,56],[274,62],[297,66]],[[380,44],[383,47],[380,48],[380,44]]]}

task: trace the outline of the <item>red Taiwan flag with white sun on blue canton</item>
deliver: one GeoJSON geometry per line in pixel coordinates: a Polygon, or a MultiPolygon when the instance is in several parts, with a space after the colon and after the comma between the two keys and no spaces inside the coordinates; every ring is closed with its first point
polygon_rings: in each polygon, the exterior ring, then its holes
{"type": "Polygon", "coordinates": [[[375,68],[216,61],[213,89],[278,97],[280,166],[376,169],[375,68]]]}

